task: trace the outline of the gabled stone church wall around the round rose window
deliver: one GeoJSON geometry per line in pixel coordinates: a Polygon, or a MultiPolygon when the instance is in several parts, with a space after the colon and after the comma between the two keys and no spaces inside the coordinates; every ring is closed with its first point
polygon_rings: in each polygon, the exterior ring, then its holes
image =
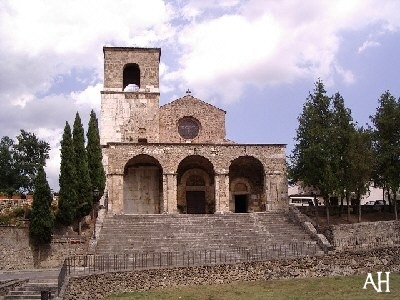
{"type": "Polygon", "coordinates": [[[225,143],[225,111],[193,96],[185,96],[160,107],[160,142],[185,143],[179,135],[179,119],[191,116],[200,122],[199,135],[192,143],[225,143]]]}

